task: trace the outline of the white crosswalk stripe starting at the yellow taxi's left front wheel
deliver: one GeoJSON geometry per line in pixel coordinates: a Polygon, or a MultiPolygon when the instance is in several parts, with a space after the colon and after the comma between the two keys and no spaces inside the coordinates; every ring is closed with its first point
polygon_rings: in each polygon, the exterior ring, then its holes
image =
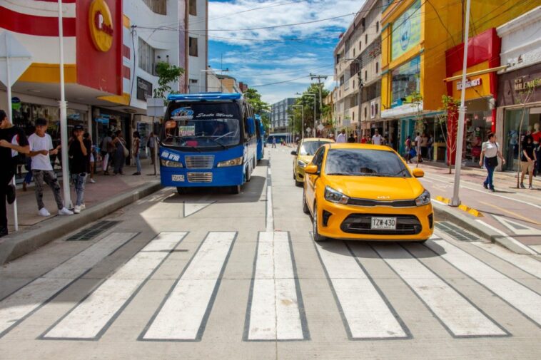
{"type": "Polygon", "coordinates": [[[350,339],[408,339],[393,307],[344,242],[315,244],[350,339]]]}

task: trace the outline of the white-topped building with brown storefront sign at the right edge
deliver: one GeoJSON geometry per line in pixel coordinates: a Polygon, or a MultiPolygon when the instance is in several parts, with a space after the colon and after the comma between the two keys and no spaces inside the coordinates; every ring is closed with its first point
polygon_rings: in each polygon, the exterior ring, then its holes
{"type": "MultiPolygon", "coordinates": [[[[503,170],[517,170],[518,145],[541,128],[541,6],[499,26],[502,38],[498,74],[496,135],[507,159],[503,170]],[[502,121],[501,121],[502,120],[502,121]],[[522,121],[522,126],[521,126],[522,121]]],[[[539,159],[538,159],[539,160],[539,159]]]]}

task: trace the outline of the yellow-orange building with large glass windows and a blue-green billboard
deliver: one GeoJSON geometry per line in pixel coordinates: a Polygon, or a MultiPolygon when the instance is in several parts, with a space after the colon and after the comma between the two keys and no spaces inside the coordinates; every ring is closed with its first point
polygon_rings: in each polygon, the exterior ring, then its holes
{"type": "MultiPolygon", "coordinates": [[[[395,121],[403,152],[417,130],[443,140],[437,115],[447,88],[445,51],[462,43],[465,0],[384,0],[381,24],[382,118],[395,121]]],[[[536,1],[472,0],[470,36],[492,29],[533,9],[536,1]]],[[[438,155],[435,153],[434,155],[438,155]]],[[[440,156],[440,159],[443,160],[440,156]]]]}

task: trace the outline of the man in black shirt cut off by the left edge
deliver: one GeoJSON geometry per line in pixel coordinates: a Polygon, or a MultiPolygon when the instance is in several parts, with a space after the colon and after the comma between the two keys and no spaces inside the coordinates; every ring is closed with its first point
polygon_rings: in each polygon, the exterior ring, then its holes
{"type": "Polygon", "coordinates": [[[24,131],[10,123],[6,112],[0,110],[0,237],[8,235],[6,200],[9,204],[15,201],[15,187],[9,182],[15,175],[16,155],[29,152],[24,131]]]}

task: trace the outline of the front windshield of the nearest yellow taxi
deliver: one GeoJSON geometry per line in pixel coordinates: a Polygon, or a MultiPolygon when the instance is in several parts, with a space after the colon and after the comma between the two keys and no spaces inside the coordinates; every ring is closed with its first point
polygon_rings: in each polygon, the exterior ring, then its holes
{"type": "Polygon", "coordinates": [[[411,178],[398,155],[391,151],[368,149],[329,150],[325,174],[411,178]]]}

